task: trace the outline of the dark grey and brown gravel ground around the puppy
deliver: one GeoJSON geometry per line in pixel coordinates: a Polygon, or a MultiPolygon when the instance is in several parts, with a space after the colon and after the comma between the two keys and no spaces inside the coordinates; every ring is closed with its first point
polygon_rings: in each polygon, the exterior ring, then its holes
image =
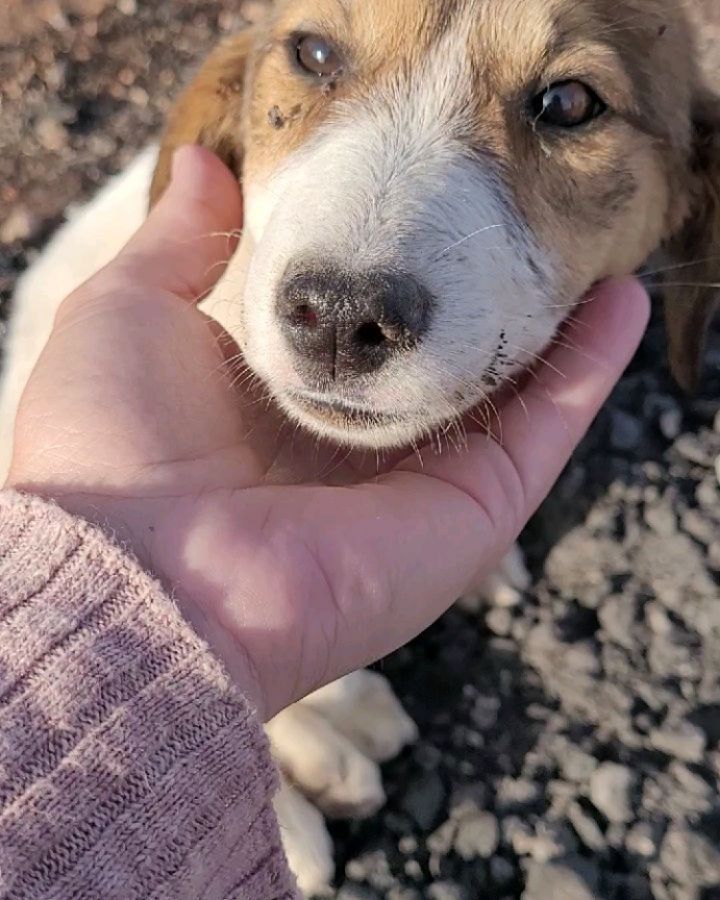
{"type": "MultiPolygon", "coordinates": [[[[7,299],[241,14],[4,2],[7,299]]],[[[387,766],[380,815],[334,827],[338,900],[720,898],[720,340],[693,401],[663,342],[656,323],[528,528],[523,604],[453,610],[383,664],[422,740],[387,766]]]]}

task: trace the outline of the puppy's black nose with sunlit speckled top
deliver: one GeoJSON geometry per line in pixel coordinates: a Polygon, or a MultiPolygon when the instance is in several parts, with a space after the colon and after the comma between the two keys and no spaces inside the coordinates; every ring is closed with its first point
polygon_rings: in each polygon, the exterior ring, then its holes
{"type": "Polygon", "coordinates": [[[285,335],[321,378],[379,369],[415,346],[432,311],[430,293],[410,275],[307,266],[288,272],[278,297],[285,335]]]}

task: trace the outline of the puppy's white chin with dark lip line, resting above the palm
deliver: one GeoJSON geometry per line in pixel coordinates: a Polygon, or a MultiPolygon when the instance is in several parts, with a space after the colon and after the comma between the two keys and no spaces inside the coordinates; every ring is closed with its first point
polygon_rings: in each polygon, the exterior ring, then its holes
{"type": "Polygon", "coordinates": [[[432,430],[427,415],[419,411],[384,412],[310,391],[287,392],[277,399],[285,414],[307,431],[345,447],[410,448],[432,430]]]}

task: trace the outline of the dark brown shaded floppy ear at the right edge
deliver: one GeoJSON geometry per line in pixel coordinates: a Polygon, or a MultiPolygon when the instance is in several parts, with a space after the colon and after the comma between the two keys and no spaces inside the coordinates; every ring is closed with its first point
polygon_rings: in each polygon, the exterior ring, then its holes
{"type": "Polygon", "coordinates": [[[710,322],[720,299],[720,103],[703,104],[695,123],[690,214],[669,245],[665,281],[670,369],[694,391],[710,322]]]}

